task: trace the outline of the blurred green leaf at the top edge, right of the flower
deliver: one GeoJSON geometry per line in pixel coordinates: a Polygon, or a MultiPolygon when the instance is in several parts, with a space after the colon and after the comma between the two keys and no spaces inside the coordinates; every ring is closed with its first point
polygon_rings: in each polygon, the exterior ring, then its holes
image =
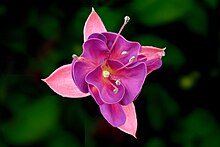
{"type": "Polygon", "coordinates": [[[136,0],[131,3],[140,22],[158,26],[181,19],[191,10],[193,0],[136,0]]]}

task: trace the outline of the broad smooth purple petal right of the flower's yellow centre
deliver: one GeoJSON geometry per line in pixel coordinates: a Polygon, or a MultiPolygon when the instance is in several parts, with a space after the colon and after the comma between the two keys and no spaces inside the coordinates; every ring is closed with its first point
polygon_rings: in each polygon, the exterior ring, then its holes
{"type": "Polygon", "coordinates": [[[143,62],[137,63],[121,69],[117,74],[125,87],[125,94],[120,104],[128,105],[135,100],[141,91],[147,75],[146,65],[143,62]]]}

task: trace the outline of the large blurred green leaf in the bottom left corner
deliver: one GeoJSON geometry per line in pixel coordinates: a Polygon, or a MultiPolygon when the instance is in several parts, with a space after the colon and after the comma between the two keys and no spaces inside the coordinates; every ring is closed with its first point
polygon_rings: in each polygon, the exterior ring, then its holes
{"type": "Polygon", "coordinates": [[[13,120],[4,124],[3,135],[14,145],[31,144],[49,135],[57,124],[58,116],[55,97],[43,97],[21,107],[13,120]]]}

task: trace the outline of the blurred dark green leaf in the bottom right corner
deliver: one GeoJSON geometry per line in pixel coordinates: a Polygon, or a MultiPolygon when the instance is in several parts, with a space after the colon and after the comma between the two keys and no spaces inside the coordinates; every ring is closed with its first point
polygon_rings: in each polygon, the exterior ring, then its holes
{"type": "Polygon", "coordinates": [[[220,146],[220,128],[212,114],[197,108],[186,116],[173,133],[173,140],[183,146],[220,146]],[[211,145],[212,144],[212,145],[211,145]]]}

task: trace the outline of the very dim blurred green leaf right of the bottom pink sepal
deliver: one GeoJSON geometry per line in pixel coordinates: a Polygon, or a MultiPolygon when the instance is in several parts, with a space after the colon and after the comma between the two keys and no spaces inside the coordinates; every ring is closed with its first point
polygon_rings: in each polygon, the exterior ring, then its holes
{"type": "Polygon", "coordinates": [[[155,130],[161,130],[168,118],[177,116],[179,107],[162,86],[150,84],[144,91],[149,122],[155,130]]]}

